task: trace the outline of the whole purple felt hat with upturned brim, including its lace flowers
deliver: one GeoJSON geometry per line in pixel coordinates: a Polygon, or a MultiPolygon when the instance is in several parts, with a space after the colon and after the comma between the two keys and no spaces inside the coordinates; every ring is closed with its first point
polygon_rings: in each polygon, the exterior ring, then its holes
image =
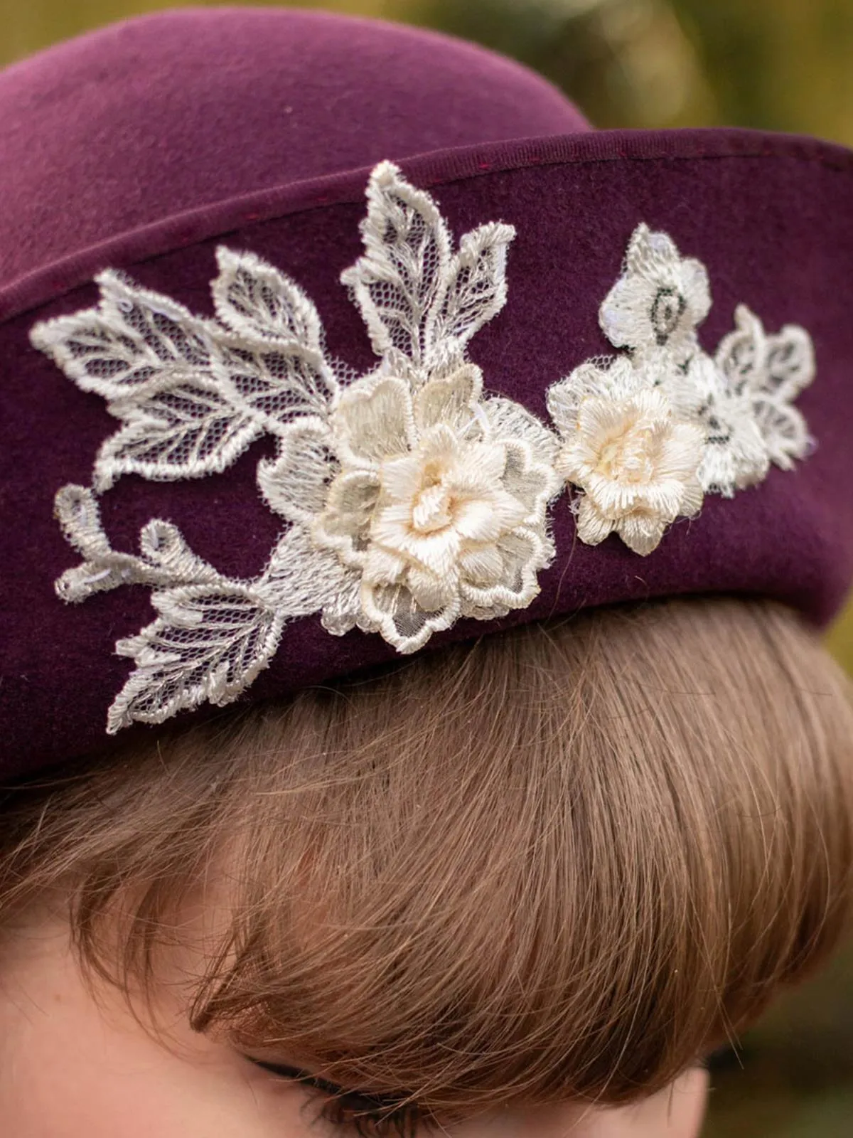
{"type": "Polygon", "coordinates": [[[838,612],[850,151],[275,9],[0,112],[5,777],[590,605],[838,612]]]}

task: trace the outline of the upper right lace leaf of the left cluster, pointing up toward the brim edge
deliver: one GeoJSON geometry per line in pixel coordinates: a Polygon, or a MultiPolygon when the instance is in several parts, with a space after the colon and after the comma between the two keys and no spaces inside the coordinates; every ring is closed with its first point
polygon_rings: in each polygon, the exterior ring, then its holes
{"type": "Polygon", "coordinates": [[[216,250],[220,275],[213,297],[220,320],[239,335],[292,340],[321,351],[323,329],[317,310],[296,281],[254,253],[216,250]]]}

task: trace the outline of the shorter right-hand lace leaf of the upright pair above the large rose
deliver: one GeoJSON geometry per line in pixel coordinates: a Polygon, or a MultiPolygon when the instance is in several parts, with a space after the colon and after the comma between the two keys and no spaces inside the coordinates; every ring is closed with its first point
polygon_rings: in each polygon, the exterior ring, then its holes
{"type": "Polygon", "coordinates": [[[461,361],[465,345],[506,304],[506,250],[513,225],[490,222],[465,233],[450,259],[440,303],[426,321],[426,363],[461,361]]]}

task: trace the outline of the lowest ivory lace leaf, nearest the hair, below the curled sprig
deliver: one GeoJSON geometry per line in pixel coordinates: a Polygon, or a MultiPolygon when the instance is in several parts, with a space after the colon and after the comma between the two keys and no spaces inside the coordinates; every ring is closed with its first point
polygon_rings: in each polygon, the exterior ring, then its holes
{"type": "Polygon", "coordinates": [[[116,644],[136,667],[109,709],[110,735],[133,721],[163,723],[205,700],[230,703],[268,665],[281,638],[282,613],[235,582],[166,589],[151,601],[158,618],[116,644]]]}

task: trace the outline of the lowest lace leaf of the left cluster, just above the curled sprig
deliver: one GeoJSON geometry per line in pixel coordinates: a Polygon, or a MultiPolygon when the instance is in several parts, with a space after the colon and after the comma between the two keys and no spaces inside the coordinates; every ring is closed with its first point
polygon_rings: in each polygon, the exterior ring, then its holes
{"type": "Polygon", "coordinates": [[[94,486],[108,489],[122,475],[155,480],[218,473],[252,443],[263,426],[238,411],[221,385],[201,376],[180,385],[166,377],[146,398],[115,399],[109,411],[125,426],[101,446],[94,486]]]}

